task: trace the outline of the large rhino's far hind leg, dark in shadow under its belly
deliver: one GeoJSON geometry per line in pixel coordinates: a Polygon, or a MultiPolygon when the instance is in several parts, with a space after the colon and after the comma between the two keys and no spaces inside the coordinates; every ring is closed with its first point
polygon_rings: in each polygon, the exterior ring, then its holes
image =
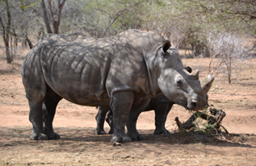
{"type": "Polygon", "coordinates": [[[61,101],[61,97],[53,92],[48,87],[46,96],[44,98],[43,119],[44,119],[44,132],[48,135],[48,139],[60,139],[61,136],[53,131],[52,122],[56,113],[57,104],[61,101]]]}

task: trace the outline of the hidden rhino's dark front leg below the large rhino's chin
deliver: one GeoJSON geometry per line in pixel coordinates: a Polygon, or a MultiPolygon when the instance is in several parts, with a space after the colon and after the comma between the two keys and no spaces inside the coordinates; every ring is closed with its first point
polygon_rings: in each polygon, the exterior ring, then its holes
{"type": "Polygon", "coordinates": [[[173,103],[171,102],[161,102],[154,106],[155,111],[155,126],[156,130],[153,132],[154,135],[161,135],[161,134],[170,134],[165,127],[166,125],[166,118],[172,108],[173,103]]]}

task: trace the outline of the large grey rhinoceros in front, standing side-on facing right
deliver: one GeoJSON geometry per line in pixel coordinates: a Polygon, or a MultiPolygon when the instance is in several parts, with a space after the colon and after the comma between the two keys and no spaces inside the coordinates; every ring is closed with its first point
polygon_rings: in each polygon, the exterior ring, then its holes
{"type": "Polygon", "coordinates": [[[158,93],[188,110],[203,110],[214,77],[199,81],[199,71],[188,73],[178,51],[169,48],[170,41],[162,36],[138,30],[103,39],[44,35],[22,66],[30,138],[60,138],[52,121],[61,98],[83,106],[110,106],[112,142],[132,140],[124,131],[129,110],[158,93]]]}

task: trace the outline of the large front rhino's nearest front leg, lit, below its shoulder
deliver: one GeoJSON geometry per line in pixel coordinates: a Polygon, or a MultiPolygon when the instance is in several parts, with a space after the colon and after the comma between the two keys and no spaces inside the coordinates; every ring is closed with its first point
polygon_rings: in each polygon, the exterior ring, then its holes
{"type": "Polygon", "coordinates": [[[134,93],[132,91],[115,92],[111,96],[111,110],[113,112],[114,134],[111,142],[131,142],[132,139],[125,134],[125,124],[127,122],[128,113],[132,107],[134,93]]]}

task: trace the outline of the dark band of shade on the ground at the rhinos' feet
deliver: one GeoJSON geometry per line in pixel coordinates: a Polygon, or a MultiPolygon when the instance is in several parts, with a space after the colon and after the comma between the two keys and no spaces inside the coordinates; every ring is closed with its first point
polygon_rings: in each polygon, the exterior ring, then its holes
{"type": "MultiPolygon", "coordinates": [[[[57,140],[30,140],[29,135],[31,128],[29,127],[1,127],[0,131],[0,147],[15,146],[42,146],[54,147],[51,151],[65,151],[65,149],[81,150],[81,147],[106,147],[112,146],[110,142],[111,135],[94,135],[94,128],[80,127],[68,128],[57,127],[55,131],[61,135],[61,139],[57,140]]],[[[217,147],[256,147],[256,135],[199,135],[195,132],[179,133],[173,132],[170,135],[153,135],[153,130],[139,131],[145,135],[145,140],[134,141],[132,143],[122,143],[122,146],[149,146],[164,145],[161,148],[169,148],[169,145],[186,145],[186,144],[206,144],[217,147]]],[[[158,148],[158,147],[157,147],[158,148]]],[[[45,149],[47,150],[47,149],[45,149]]]]}

